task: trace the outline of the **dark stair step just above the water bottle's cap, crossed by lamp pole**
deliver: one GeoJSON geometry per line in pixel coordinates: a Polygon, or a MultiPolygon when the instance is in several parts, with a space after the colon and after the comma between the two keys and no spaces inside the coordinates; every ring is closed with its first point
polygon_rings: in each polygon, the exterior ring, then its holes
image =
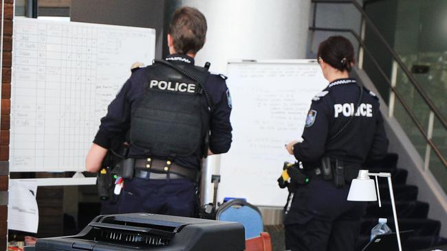
{"type": "MultiPolygon", "coordinates": [[[[426,202],[396,202],[397,217],[399,218],[426,219],[429,208],[430,205],[426,202]]],[[[367,213],[364,217],[392,218],[393,208],[391,202],[384,202],[382,200],[382,207],[379,207],[378,202],[368,203],[367,213]]]]}

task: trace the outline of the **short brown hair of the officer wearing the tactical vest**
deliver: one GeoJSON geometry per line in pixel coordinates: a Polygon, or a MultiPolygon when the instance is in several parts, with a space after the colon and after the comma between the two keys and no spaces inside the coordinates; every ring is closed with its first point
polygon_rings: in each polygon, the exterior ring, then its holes
{"type": "Polygon", "coordinates": [[[204,14],[196,8],[182,7],[175,10],[169,34],[177,53],[197,53],[204,47],[206,38],[206,19],[204,14]]]}

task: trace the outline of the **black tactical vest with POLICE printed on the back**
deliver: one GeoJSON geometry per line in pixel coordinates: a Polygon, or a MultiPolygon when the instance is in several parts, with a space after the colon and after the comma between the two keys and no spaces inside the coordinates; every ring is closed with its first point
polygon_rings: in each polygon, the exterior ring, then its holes
{"type": "Polygon", "coordinates": [[[206,82],[210,73],[193,65],[176,64],[176,70],[167,64],[155,62],[145,69],[144,94],[131,115],[131,147],[160,158],[203,157],[210,115],[199,82],[206,82]]]}

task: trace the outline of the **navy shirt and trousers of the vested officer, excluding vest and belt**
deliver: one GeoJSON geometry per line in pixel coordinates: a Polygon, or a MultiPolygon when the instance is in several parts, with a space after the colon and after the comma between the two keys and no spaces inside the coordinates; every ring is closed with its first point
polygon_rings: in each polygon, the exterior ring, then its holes
{"type": "MultiPolygon", "coordinates": [[[[166,58],[173,64],[194,64],[194,59],[186,55],[174,54],[166,58]]],[[[134,71],[122,87],[120,93],[111,104],[107,115],[101,119],[100,130],[96,134],[94,143],[102,147],[110,147],[109,141],[113,137],[129,130],[131,113],[142,93],[146,81],[144,69],[134,71]]],[[[210,151],[214,154],[228,152],[230,149],[231,103],[229,92],[223,75],[210,74],[204,83],[208,89],[214,110],[210,117],[210,151]]],[[[206,104],[204,104],[205,106],[206,104]]],[[[129,147],[129,158],[145,158],[143,150],[129,147]]],[[[174,163],[189,169],[200,169],[200,158],[197,155],[175,158],[174,163]]],[[[150,178],[150,174],[149,177],[150,178]]],[[[124,181],[124,190],[118,200],[118,212],[130,213],[144,211],[149,213],[163,213],[168,215],[193,216],[195,205],[195,184],[186,178],[180,179],[151,179],[133,178],[124,181]],[[164,196],[166,193],[166,197],[164,196]],[[134,199],[135,198],[135,199],[134,199]]]]}

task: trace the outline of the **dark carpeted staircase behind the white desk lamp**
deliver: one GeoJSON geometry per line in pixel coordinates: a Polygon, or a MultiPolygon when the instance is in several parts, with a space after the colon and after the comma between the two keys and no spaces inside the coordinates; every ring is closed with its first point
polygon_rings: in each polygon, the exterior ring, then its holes
{"type": "MultiPolygon", "coordinates": [[[[406,184],[408,171],[397,167],[397,160],[397,154],[387,154],[381,163],[371,165],[368,168],[374,173],[380,171],[391,173],[400,231],[414,230],[408,241],[402,243],[403,249],[411,251],[447,245],[447,239],[439,237],[441,222],[428,219],[430,205],[417,200],[418,187],[406,184]]],[[[386,179],[379,179],[379,188],[382,207],[378,206],[378,202],[368,204],[367,212],[360,226],[360,237],[356,244],[356,250],[360,251],[367,245],[371,228],[378,224],[378,218],[388,219],[387,225],[395,231],[386,179]]]]}

